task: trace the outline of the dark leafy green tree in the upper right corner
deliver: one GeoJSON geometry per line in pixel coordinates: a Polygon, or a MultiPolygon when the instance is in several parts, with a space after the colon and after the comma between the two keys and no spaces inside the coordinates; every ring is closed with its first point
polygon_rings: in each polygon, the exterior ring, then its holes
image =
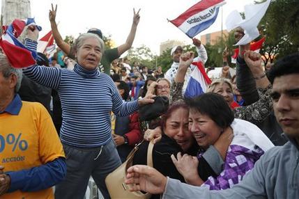
{"type": "Polygon", "coordinates": [[[266,15],[259,24],[261,35],[266,37],[260,51],[266,58],[265,65],[268,61],[272,63],[274,58],[281,58],[299,50],[298,29],[298,0],[271,1],[266,15]]]}

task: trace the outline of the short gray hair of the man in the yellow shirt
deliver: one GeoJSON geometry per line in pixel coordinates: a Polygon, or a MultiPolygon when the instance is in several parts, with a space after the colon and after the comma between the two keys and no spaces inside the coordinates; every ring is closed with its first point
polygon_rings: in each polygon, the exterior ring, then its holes
{"type": "Polygon", "coordinates": [[[15,93],[17,93],[21,87],[21,81],[23,77],[22,69],[12,67],[8,62],[8,58],[3,53],[0,53],[0,72],[2,72],[3,77],[6,79],[10,76],[10,74],[15,74],[15,76],[17,76],[17,85],[15,86],[15,93]]]}

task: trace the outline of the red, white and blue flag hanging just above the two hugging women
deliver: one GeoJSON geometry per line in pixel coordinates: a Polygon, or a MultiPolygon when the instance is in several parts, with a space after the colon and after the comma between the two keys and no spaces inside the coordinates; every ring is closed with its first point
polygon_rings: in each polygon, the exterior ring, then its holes
{"type": "Polygon", "coordinates": [[[187,88],[185,90],[185,97],[192,98],[197,97],[203,93],[206,93],[208,85],[211,83],[206,70],[204,70],[204,63],[194,62],[192,65],[197,67],[191,73],[190,80],[188,82],[187,88]]]}

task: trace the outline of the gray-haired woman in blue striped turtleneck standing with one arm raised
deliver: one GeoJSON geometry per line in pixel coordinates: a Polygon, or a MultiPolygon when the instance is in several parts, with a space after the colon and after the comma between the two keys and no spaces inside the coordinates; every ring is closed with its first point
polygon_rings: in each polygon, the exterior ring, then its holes
{"type": "MultiPolygon", "coordinates": [[[[36,49],[37,38],[38,30],[31,26],[26,47],[36,49]]],[[[74,70],[38,65],[24,70],[33,81],[58,90],[61,98],[60,136],[68,170],[66,179],[56,186],[55,198],[83,198],[90,176],[109,198],[105,177],[121,165],[112,140],[110,112],[128,116],[153,102],[153,95],[123,102],[112,79],[98,70],[104,47],[98,35],[84,33],[75,41],[74,70]]]]}

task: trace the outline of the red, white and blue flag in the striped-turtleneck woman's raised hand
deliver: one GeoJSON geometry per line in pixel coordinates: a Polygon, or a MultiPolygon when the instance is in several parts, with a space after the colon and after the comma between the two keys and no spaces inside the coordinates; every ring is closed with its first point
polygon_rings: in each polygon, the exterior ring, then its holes
{"type": "MultiPolygon", "coordinates": [[[[33,18],[15,19],[9,26],[3,26],[3,35],[0,38],[0,47],[6,54],[13,67],[22,68],[36,64],[36,51],[31,51],[22,42],[17,40],[25,26],[36,25],[33,18]]],[[[41,31],[41,27],[37,26],[41,31]]]]}

